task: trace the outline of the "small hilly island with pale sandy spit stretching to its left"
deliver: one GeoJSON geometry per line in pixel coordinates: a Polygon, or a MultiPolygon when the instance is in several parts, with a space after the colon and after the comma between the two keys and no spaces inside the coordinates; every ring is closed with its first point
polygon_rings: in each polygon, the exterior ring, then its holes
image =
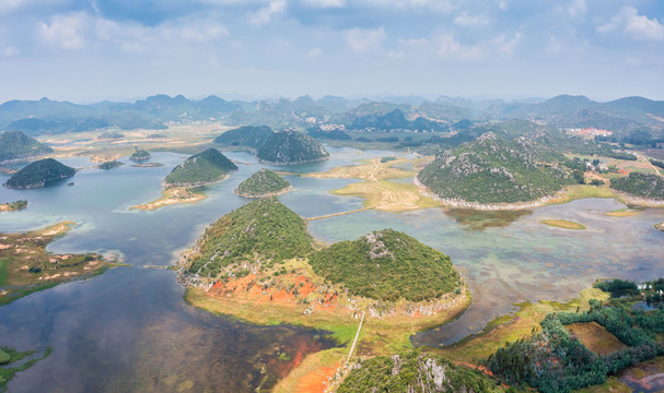
{"type": "Polygon", "coordinates": [[[224,180],[236,169],[237,166],[220,151],[208,148],[173,168],[162,183],[162,198],[130,209],[154,210],[176,203],[202,201],[206,199],[203,186],[224,180]]]}

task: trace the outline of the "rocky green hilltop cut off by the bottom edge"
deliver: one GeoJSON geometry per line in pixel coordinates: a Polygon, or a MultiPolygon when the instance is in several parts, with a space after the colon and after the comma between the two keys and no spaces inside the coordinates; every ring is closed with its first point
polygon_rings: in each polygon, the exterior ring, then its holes
{"type": "Polygon", "coordinates": [[[363,360],[354,366],[337,390],[338,393],[502,391],[493,380],[479,371],[417,350],[363,360]]]}

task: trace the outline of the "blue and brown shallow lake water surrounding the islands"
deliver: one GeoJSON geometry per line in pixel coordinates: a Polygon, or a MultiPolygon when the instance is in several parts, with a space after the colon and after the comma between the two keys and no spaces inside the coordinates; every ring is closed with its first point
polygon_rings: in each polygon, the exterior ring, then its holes
{"type": "MultiPolygon", "coordinates": [[[[270,169],[324,171],[360,158],[394,155],[328,148],[330,159],[270,169]]],[[[269,386],[298,354],[333,345],[321,332],[295,326],[254,326],[218,318],[183,301],[175,273],[145,266],[173,264],[206,225],[248,201],[233,189],[265,165],[247,153],[228,153],[240,164],[208,188],[197,204],[129,211],[161,195],[161,181],[186,155],[155,153],[163,167],[126,164],[108,171],[86,158],[62,162],[88,167],[55,187],[0,189],[0,201],[25,199],[27,210],[0,214],[0,231],[30,230],[61,221],[78,226],[51,243],[54,252],[109,252],[129,267],[33,294],[0,308],[0,345],[53,354],[9,384],[12,392],[191,391],[244,392],[269,386]],[[67,182],[73,181],[73,187],[67,182]],[[286,356],[283,356],[286,354],[286,356]],[[261,372],[263,370],[263,372],[261,372]]],[[[127,159],[123,159],[127,162],[127,159]]],[[[0,182],[8,176],[0,175],[0,182]]],[[[362,199],[333,195],[353,179],[287,177],[293,191],[279,199],[311,217],[356,210],[362,199]]],[[[624,207],[613,200],[583,200],[520,214],[466,214],[441,209],[406,213],[364,211],[310,223],[326,242],[356,239],[392,227],[452,257],[473,290],[474,303],[457,321],[413,337],[418,345],[450,344],[477,332],[494,315],[526,299],[566,299],[597,277],[664,276],[663,234],[653,228],[664,211],[631,217],[603,213],[624,207]],[[545,218],[584,224],[581,231],[548,227],[545,218]]]]}

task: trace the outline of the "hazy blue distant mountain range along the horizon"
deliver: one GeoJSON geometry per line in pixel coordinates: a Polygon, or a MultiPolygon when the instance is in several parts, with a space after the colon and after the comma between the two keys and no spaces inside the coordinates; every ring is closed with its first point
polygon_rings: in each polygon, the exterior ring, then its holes
{"type": "Polygon", "coordinates": [[[269,126],[276,130],[334,124],[346,129],[399,129],[441,131],[459,121],[541,120],[560,128],[607,129],[618,138],[631,132],[648,132],[664,138],[664,102],[625,97],[597,103],[585,96],[560,95],[546,100],[473,102],[440,97],[392,97],[373,102],[325,96],[313,99],[265,99],[229,102],[218,96],[201,100],[182,95],[155,95],[135,103],[102,102],[78,105],[39,100],[11,100],[0,105],[0,129],[30,135],[97,129],[161,129],[170,122],[221,120],[226,124],[269,126]]]}

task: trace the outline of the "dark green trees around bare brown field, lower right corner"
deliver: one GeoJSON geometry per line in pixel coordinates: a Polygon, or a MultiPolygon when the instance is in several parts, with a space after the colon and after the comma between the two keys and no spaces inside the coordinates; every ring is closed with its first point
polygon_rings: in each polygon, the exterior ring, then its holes
{"type": "Polygon", "coordinates": [[[620,306],[603,307],[590,300],[585,312],[557,312],[541,322],[532,337],[508,343],[487,360],[487,366],[508,383],[527,383],[540,392],[569,392],[604,383],[615,373],[643,360],[664,355],[656,335],[664,333],[664,310],[631,312],[620,306]],[[595,322],[628,347],[597,356],[564,325],[595,322]]]}

